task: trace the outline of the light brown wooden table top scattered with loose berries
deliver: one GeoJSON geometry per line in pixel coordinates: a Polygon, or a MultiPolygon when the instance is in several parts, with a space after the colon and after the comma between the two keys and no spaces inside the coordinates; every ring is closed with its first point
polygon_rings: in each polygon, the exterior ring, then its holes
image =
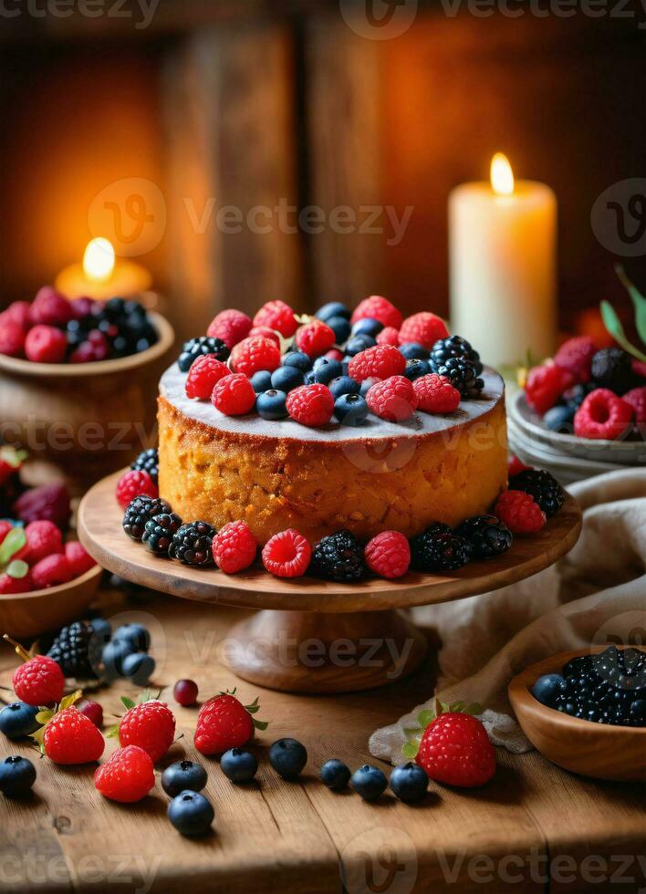
{"type": "MultiPolygon", "coordinates": [[[[196,709],[172,702],[172,685],[191,677],[201,698],[238,686],[245,701],[260,695],[255,750],[257,784],[232,785],[213,758],[207,794],[215,831],[206,839],[180,837],[166,819],[168,798],[158,783],[135,806],[110,803],[95,792],[93,766],[62,768],[25,743],[0,741],[0,755],[36,761],[35,792],[26,802],[0,796],[0,890],[222,891],[258,894],[341,891],[635,891],[646,884],[644,789],[599,783],[562,772],[536,752],[498,750],[492,783],[480,791],[433,785],[420,806],[404,806],[388,792],[376,805],[358,795],[334,794],[318,781],[329,757],[352,768],[375,762],[368,737],[422,702],[432,691],[431,662],[391,687],[334,696],[300,696],[258,690],[236,680],[217,660],[218,644],[241,618],[217,608],[144,594],[133,604],[102,591],[108,613],[143,613],[158,659],[154,681],[172,703],[183,738],[166,763],[196,758],[196,709]],[[164,640],[165,639],[165,644],[164,640]],[[280,780],[266,748],[283,735],[307,745],[306,772],[296,783],[280,780]],[[641,859],[641,862],[640,862],[641,859]]],[[[432,636],[432,632],[431,632],[432,636]]],[[[0,652],[0,683],[15,660],[0,652]]],[[[129,685],[96,695],[110,712],[129,685]]],[[[109,740],[108,750],[115,747],[109,740]]],[[[384,769],[387,769],[384,767],[384,769]]]]}

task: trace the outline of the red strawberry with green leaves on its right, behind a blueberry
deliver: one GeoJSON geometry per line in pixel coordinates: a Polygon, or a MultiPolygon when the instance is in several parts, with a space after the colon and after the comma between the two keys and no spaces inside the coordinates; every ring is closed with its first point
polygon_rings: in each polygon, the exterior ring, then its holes
{"type": "Polygon", "coordinates": [[[254,735],[266,730],[267,723],[252,716],[260,707],[257,698],[244,705],[234,692],[221,692],[204,702],[197,715],[195,747],[202,754],[224,754],[230,748],[241,748],[254,735]]]}

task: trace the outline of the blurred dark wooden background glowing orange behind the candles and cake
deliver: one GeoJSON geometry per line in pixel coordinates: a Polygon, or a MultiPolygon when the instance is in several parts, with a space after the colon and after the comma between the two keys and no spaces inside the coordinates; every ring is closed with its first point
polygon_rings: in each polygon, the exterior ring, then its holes
{"type": "MultiPolygon", "coordinates": [[[[276,297],[311,310],[377,292],[446,315],[449,192],[504,151],[557,194],[560,327],[596,327],[604,297],[628,312],[612,267],[645,286],[643,251],[591,215],[644,174],[640,11],[484,7],[5,4],[0,304],[106,235],[180,337],[276,297]]],[[[643,235],[646,196],[631,213],[643,235]]]]}

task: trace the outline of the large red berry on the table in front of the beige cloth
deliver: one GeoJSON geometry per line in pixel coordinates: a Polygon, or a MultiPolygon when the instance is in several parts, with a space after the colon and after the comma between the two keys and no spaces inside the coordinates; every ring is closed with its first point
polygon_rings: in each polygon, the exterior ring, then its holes
{"type": "Polygon", "coordinates": [[[415,760],[431,779],[461,788],[484,785],[495,774],[494,746],[471,714],[440,714],[426,727],[415,760]]]}

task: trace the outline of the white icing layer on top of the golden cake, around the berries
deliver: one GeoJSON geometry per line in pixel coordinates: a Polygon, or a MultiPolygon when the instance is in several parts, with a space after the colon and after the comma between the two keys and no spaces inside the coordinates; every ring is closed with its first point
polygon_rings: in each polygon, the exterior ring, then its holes
{"type": "Polygon", "coordinates": [[[485,367],[482,373],[484,390],[478,400],[462,400],[454,413],[445,416],[415,412],[403,422],[389,422],[370,414],[359,426],[341,425],[334,418],[328,425],[308,428],[291,419],[271,421],[262,419],[257,413],[249,416],[224,416],[214,408],[210,400],[193,400],[186,397],[184,385],[187,373],[173,363],[160,379],[160,394],[172,406],[204,425],[234,434],[252,435],[261,438],[289,438],[294,441],[373,441],[376,439],[419,437],[446,431],[455,425],[473,421],[492,410],[505,391],[505,384],[495,369],[485,367]]]}

